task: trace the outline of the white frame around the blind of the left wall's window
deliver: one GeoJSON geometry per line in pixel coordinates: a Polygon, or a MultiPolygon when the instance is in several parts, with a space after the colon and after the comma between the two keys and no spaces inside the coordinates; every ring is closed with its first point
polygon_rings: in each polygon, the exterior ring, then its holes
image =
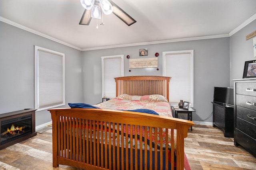
{"type": "Polygon", "coordinates": [[[65,54],[57,51],[53,51],[50,49],[46,49],[43,47],[38,47],[35,45],[35,109],[37,109],[36,111],[41,111],[41,110],[50,109],[58,106],[64,106],[64,105],[65,105],[65,54]],[[39,89],[39,63],[38,63],[39,51],[62,57],[62,103],[60,104],[54,104],[46,107],[40,107],[39,105],[39,102],[40,102],[39,101],[39,90],[40,90],[39,89]]]}

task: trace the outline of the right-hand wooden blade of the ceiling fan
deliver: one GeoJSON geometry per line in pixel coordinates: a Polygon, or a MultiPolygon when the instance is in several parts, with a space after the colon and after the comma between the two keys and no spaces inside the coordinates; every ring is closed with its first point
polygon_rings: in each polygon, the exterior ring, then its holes
{"type": "Polygon", "coordinates": [[[120,20],[126,23],[128,26],[134,24],[135,21],[131,16],[129,16],[124,10],[117,6],[112,0],[108,0],[113,5],[113,14],[115,14],[120,20]]]}

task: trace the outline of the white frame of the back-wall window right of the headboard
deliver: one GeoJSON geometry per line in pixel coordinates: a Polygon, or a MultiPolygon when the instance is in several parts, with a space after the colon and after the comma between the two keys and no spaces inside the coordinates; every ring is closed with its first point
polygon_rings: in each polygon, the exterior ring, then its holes
{"type": "MultiPolygon", "coordinates": [[[[166,52],[163,52],[162,54],[163,54],[162,55],[163,56],[163,76],[166,76],[166,55],[190,54],[190,63],[191,63],[190,107],[194,107],[194,50],[166,51],[166,52]]],[[[169,96],[169,98],[172,98],[172,96],[169,96]]],[[[173,105],[178,105],[178,103],[175,103],[173,105]]]]}

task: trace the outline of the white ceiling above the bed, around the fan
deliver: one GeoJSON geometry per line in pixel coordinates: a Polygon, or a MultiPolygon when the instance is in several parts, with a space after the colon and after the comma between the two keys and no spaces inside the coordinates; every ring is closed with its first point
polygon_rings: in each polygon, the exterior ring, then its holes
{"type": "MultiPolygon", "coordinates": [[[[0,0],[0,19],[18,23],[80,50],[209,35],[229,36],[256,17],[256,0],[112,0],[137,22],[114,14],[79,25],[80,0],[0,0]],[[7,20],[6,20],[7,19],[7,20]]],[[[246,36],[246,35],[245,35],[246,36]]]]}

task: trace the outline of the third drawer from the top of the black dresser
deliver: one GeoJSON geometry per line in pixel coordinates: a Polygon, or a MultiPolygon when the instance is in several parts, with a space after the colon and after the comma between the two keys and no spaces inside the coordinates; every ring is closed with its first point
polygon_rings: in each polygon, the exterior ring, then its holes
{"type": "Polygon", "coordinates": [[[256,125],[256,111],[254,110],[236,106],[236,116],[256,125]]]}

